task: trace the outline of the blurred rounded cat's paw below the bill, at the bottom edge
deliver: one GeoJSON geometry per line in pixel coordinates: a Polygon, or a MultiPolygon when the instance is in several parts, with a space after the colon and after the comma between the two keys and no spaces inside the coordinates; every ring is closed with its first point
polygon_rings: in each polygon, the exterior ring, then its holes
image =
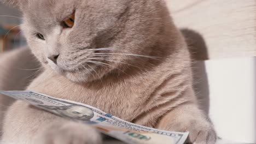
{"type": "Polygon", "coordinates": [[[100,133],[90,125],[75,122],[54,123],[39,131],[33,143],[38,144],[101,144],[100,133]]]}

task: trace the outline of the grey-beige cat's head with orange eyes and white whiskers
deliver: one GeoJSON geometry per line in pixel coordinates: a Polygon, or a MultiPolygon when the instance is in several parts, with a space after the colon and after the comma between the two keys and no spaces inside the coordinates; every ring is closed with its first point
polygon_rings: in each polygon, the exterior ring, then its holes
{"type": "Polygon", "coordinates": [[[123,73],[147,59],[166,11],[162,0],[3,1],[22,11],[22,30],[44,67],[74,82],[123,73]]]}

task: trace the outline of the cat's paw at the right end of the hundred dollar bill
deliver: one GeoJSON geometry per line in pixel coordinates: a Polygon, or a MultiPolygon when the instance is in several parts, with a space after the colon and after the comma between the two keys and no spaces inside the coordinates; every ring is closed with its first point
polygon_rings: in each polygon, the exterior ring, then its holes
{"type": "Polygon", "coordinates": [[[213,124],[196,104],[183,104],[168,112],[158,123],[158,129],[189,131],[189,141],[196,144],[214,144],[216,132],[213,124]]]}

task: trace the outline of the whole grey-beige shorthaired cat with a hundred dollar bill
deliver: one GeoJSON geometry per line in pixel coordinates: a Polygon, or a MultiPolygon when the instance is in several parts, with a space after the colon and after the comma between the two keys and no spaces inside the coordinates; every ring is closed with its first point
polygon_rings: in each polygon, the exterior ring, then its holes
{"type": "MultiPolygon", "coordinates": [[[[216,141],[197,106],[187,45],[164,1],[27,0],[19,8],[28,45],[45,67],[28,89],[148,127],[189,131],[194,143],[216,141]],[[73,28],[64,29],[62,20],[73,12],[73,28]],[[56,62],[49,56],[58,56],[56,62]]],[[[84,137],[88,129],[17,101],[6,115],[3,140],[101,143],[97,131],[84,137]]]]}

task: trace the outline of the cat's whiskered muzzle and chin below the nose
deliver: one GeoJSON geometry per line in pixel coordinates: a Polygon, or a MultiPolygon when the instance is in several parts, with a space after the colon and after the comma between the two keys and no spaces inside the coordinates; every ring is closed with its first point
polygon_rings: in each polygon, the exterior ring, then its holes
{"type": "MultiPolygon", "coordinates": [[[[109,50],[102,48],[100,50],[109,50]]],[[[97,49],[99,50],[99,49],[97,49]]],[[[92,51],[92,50],[91,50],[92,51]]],[[[57,74],[65,76],[73,82],[88,82],[101,79],[113,66],[110,62],[115,59],[110,58],[106,52],[95,51],[93,53],[84,54],[83,57],[74,58],[72,61],[59,57],[57,62],[48,59],[48,67],[57,74]]]]}

